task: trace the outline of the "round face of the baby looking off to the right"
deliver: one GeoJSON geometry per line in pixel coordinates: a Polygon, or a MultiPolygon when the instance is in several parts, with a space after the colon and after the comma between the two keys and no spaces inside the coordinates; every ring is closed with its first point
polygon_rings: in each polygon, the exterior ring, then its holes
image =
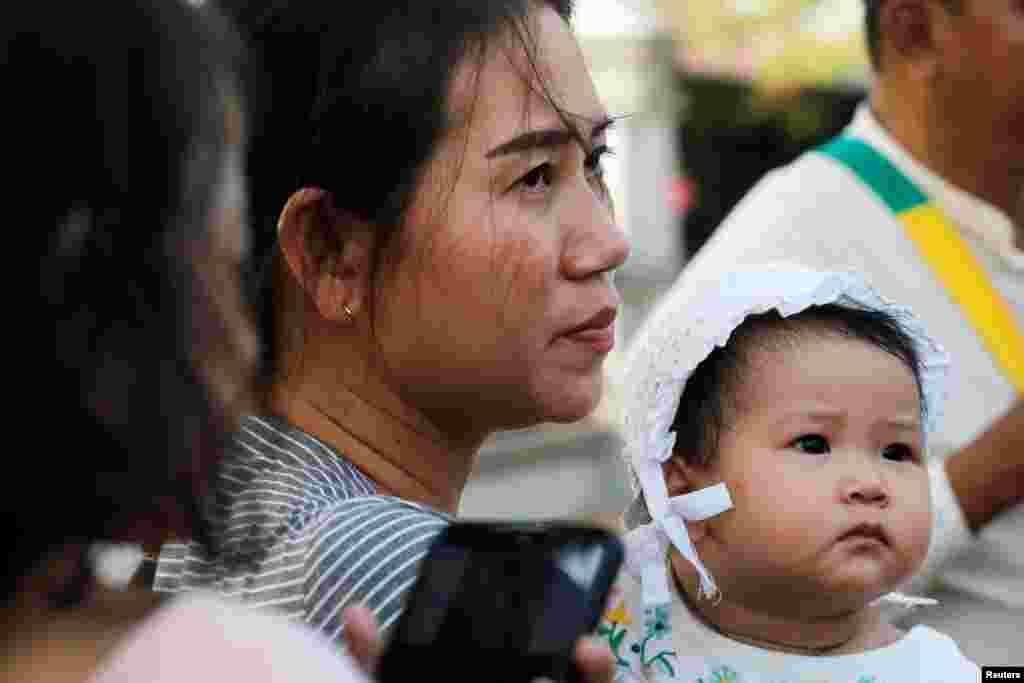
{"type": "Polygon", "coordinates": [[[698,551],[725,595],[794,617],[911,574],[931,528],[921,399],[899,358],[838,335],[755,351],[712,466],[734,508],[698,551]]]}

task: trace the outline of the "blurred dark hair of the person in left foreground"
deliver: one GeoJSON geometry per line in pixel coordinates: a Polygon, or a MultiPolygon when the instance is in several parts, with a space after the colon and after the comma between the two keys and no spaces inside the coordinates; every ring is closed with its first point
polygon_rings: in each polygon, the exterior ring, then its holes
{"type": "Polygon", "coordinates": [[[228,424],[196,361],[224,322],[194,256],[211,244],[237,93],[226,25],[178,0],[0,15],[22,378],[7,384],[7,600],[48,553],[124,532],[156,500],[195,512],[196,474],[228,424]]]}

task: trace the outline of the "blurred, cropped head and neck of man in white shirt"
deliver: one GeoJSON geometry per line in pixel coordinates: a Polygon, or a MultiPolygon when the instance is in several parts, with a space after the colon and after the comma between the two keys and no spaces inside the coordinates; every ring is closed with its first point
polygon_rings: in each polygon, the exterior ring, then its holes
{"type": "Polygon", "coordinates": [[[872,103],[932,170],[1013,215],[1024,187],[1024,3],[865,0],[872,103]]]}

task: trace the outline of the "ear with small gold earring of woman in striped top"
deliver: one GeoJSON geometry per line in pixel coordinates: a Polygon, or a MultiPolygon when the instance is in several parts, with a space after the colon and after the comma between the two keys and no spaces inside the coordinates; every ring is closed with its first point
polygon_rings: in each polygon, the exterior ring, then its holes
{"type": "Polygon", "coordinates": [[[366,308],[373,238],[369,223],[337,211],[318,187],[294,193],[278,220],[289,271],[321,316],[336,323],[351,323],[366,308]]]}

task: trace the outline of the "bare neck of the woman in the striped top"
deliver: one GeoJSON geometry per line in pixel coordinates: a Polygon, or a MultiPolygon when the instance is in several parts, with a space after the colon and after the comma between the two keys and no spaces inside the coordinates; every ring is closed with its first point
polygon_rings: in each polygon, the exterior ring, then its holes
{"type": "Polygon", "coordinates": [[[347,374],[360,378],[352,384],[337,381],[337,368],[303,370],[272,388],[271,411],[342,454],[380,493],[456,513],[486,433],[451,437],[368,373],[347,374]]]}

